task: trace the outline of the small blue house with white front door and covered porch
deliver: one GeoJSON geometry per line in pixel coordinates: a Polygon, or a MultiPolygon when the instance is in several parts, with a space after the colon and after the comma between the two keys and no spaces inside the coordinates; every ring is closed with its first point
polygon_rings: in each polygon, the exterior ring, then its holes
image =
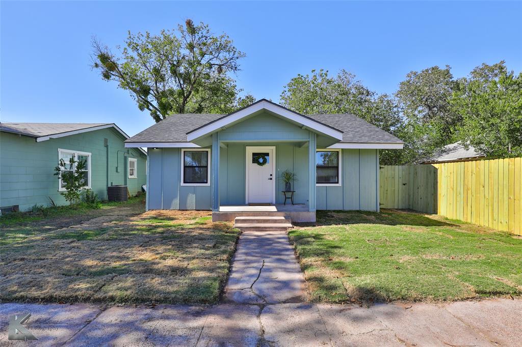
{"type": "Polygon", "coordinates": [[[125,146],[148,148],[147,209],[211,209],[219,220],[282,204],[288,169],[298,205],[284,208],[304,221],[316,209],[378,211],[379,149],[403,142],[354,115],[305,116],[263,99],[229,115],[172,115],[125,146]]]}

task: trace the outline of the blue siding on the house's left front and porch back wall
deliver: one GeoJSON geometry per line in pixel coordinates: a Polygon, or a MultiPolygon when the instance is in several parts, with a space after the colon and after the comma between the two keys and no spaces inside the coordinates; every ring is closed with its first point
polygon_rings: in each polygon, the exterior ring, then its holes
{"type": "MultiPolygon", "coordinates": [[[[284,183],[279,179],[286,169],[296,172],[295,203],[308,200],[308,148],[293,143],[230,143],[220,148],[219,200],[221,205],[245,203],[246,146],[276,146],[276,203],[283,203],[284,183]],[[279,192],[279,193],[278,193],[279,192]]],[[[148,148],[149,209],[211,209],[211,185],[181,185],[182,148],[148,148]]],[[[209,158],[210,159],[210,158],[209,158]]],[[[210,168],[213,170],[213,168],[210,168]]]]}

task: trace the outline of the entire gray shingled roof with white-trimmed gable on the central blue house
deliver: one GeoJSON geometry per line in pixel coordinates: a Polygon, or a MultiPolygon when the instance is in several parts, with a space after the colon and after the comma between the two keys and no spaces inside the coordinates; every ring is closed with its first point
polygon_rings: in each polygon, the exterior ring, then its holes
{"type": "MultiPolygon", "coordinates": [[[[252,105],[265,102],[265,106],[275,105],[278,111],[286,110],[294,113],[287,108],[274,104],[270,101],[262,99],[252,105]]],[[[204,129],[209,125],[213,128],[221,128],[221,120],[245,110],[249,105],[229,115],[222,114],[176,114],[156,123],[155,125],[141,131],[132,138],[126,140],[126,146],[142,146],[151,147],[199,147],[190,142],[188,135],[194,134],[196,131],[204,129]],[[127,145],[128,144],[128,145],[127,145]]],[[[299,115],[301,120],[309,120],[313,125],[320,125],[332,131],[337,132],[340,136],[337,138],[339,142],[330,147],[332,148],[360,148],[365,144],[365,148],[402,148],[404,142],[396,138],[394,135],[371,125],[365,120],[352,114],[331,114],[331,115],[299,115]]],[[[325,130],[322,128],[322,130],[325,130]]],[[[326,130],[325,130],[326,131],[326,130]]],[[[201,132],[204,133],[205,131],[201,132]]],[[[193,135],[194,136],[194,135],[193,135]]],[[[195,135],[201,136],[201,134],[195,135]]]]}

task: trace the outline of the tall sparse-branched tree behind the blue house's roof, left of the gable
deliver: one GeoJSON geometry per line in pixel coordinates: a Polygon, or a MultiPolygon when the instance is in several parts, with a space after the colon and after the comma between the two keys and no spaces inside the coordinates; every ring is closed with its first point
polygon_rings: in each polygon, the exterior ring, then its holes
{"type": "Polygon", "coordinates": [[[230,75],[245,54],[204,23],[188,19],[159,35],[129,32],[118,55],[95,39],[92,46],[93,68],[157,122],[173,113],[229,113],[241,102],[230,75]]]}

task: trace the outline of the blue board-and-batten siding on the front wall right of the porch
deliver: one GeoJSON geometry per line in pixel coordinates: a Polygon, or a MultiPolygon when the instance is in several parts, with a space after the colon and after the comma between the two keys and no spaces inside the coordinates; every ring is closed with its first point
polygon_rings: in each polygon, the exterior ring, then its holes
{"type": "Polygon", "coordinates": [[[342,150],[340,187],[317,186],[317,209],[378,211],[378,150],[342,150]]]}

